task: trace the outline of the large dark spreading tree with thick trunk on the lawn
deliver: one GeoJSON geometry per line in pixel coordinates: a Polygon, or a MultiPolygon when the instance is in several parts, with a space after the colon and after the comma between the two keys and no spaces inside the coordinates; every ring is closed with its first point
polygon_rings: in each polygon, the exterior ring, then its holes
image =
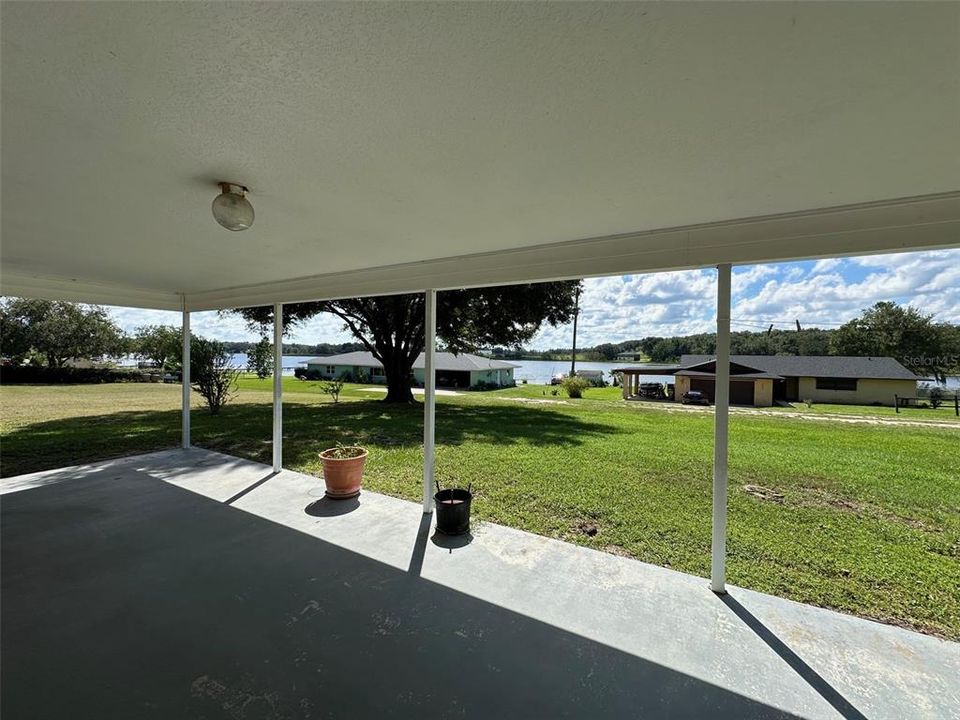
{"type": "MultiPolygon", "coordinates": [[[[494,346],[516,347],[529,341],[544,323],[573,319],[579,280],[437,293],[437,337],[454,353],[494,346]]],[[[242,308],[251,325],[273,322],[273,308],[242,308]]],[[[413,402],[413,364],[424,348],[424,296],[384,297],[291,303],[283,306],[284,331],[321,312],[344,326],[383,364],[385,402],[413,402]]]]}

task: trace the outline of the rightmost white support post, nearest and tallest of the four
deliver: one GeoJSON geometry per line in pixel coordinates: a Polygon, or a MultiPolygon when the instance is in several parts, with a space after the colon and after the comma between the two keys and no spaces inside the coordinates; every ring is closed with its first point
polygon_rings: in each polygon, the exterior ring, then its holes
{"type": "Polygon", "coordinates": [[[727,447],[730,420],[730,264],[718,265],[717,367],[713,420],[713,542],[710,589],[725,593],[727,555],[727,447]]]}

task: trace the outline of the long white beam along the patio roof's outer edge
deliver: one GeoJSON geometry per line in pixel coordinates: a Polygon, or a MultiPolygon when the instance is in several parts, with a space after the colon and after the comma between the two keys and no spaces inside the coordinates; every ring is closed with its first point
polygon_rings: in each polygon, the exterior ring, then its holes
{"type": "Polygon", "coordinates": [[[478,253],[200,293],[5,273],[3,294],[214,310],[603,275],[960,247],[960,192],[478,253]]]}

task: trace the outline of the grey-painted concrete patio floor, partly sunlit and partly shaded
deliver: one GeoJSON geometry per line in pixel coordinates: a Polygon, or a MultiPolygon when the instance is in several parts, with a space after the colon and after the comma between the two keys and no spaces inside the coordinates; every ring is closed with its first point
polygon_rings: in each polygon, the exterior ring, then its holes
{"type": "Polygon", "coordinates": [[[2,491],[5,718],[960,717],[956,643],[218,453],[2,491]]]}

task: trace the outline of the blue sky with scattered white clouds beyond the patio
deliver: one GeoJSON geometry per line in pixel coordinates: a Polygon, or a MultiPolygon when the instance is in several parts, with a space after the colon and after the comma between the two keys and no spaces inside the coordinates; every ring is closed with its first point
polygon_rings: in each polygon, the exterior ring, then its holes
{"type": "MultiPolygon", "coordinates": [[[[897,255],[749,265],[733,271],[731,325],[735,330],[832,328],[880,300],[910,304],[937,320],[960,323],[960,249],[897,255]]],[[[716,271],[688,270],[584,281],[578,330],[581,347],[647,335],[686,335],[713,329],[716,271]]],[[[180,314],[109,308],[125,330],[139,325],[179,325],[180,314]]],[[[242,319],[195,313],[194,332],[222,340],[256,340],[242,319]]],[[[571,326],[544,328],[531,348],[569,347],[571,326]]],[[[342,323],[320,315],[296,329],[293,342],[351,339],[342,323]]]]}

